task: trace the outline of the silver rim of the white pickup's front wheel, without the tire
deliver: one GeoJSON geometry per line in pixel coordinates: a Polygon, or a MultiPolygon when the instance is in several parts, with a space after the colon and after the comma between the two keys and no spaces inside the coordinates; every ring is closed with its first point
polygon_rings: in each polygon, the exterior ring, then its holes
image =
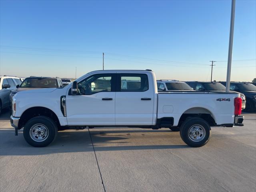
{"type": "Polygon", "coordinates": [[[29,131],[30,137],[36,142],[43,142],[48,138],[48,128],[43,124],[34,124],[29,131]]]}

